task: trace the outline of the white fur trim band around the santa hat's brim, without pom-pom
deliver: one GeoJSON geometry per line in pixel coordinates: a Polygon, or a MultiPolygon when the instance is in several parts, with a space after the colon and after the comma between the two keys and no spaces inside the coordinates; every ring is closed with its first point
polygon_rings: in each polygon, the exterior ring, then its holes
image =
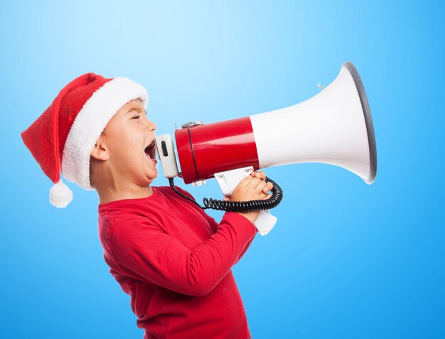
{"type": "Polygon", "coordinates": [[[127,77],[115,77],[96,90],[80,109],[68,133],[62,156],[63,176],[85,190],[92,190],[90,154],[100,134],[124,104],[141,99],[146,106],[148,98],[145,88],[127,77]]]}

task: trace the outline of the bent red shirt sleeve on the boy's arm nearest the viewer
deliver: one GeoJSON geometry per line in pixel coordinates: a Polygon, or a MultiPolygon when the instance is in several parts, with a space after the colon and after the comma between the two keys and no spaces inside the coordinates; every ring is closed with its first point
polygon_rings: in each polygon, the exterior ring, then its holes
{"type": "Polygon", "coordinates": [[[149,220],[125,220],[109,231],[122,274],[191,296],[204,296],[224,278],[257,230],[247,218],[226,212],[216,232],[191,250],[149,220]]]}

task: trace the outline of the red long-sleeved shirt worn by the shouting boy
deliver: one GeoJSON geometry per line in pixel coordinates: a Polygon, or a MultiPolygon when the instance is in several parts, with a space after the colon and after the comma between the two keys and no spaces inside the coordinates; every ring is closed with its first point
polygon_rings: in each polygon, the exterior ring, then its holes
{"type": "Polygon", "coordinates": [[[171,188],[153,191],[98,207],[105,262],[144,338],[251,338],[231,267],[256,228],[234,212],[218,225],[171,188]]]}

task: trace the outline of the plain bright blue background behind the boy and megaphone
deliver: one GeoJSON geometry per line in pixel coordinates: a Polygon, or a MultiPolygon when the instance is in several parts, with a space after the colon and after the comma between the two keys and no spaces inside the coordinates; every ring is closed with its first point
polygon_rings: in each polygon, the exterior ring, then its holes
{"type": "MultiPolygon", "coordinates": [[[[445,338],[442,1],[13,2],[0,3],[2,338],[143,335],[102,257],[97,194],[70,184],[73,202],[53,208],[21,142],[70,80],[140,82],[171,134],[309,99],[346,60],[370,102],[377,179],[266,171],[284,189],[279,223],[233,269],[252,335],[445,338]]],[[[215,181],[186,188],[220,196],[215,181]]]]}

